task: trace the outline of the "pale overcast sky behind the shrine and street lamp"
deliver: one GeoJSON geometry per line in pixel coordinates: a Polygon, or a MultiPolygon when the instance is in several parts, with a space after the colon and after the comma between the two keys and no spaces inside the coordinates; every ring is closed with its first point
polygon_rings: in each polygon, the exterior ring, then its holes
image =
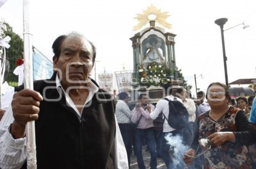
{"type": "MultiPolygon", "coordinates": [[[[253,0],[31,0],[33,45],[52,58],[55,38],[78,31],[97,47],[96,60],[100,62],[96,63],[96,73],[103,73],[104,67],[107,73],[120,71],[123,64],[126,70],[132,70],[129,38],[138,32],[133,31],[137,24],[134,17],[151,3],[171,15],[167,21],[173,28],[165,30],[177,34],[176,64],[194,87],[192,94],[195,93],[194,74],[201,90],[206,90],[211,82],[225,83],[220,27],[214,23],[221,17],[228,18],[224,29],[244,20],[250,25],[245,30],[240,25],[224,32],[229,82],[256,77],[256,1],[253,0]]],[[[0,17],[21,36],[22,10],[21,0],[8,0],[0,8],[0,17]]]]}

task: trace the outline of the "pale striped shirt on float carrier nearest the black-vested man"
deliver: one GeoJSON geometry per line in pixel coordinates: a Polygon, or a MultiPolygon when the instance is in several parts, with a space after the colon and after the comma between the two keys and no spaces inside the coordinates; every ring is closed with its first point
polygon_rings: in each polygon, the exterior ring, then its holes
{"type": "Polygon", "coordinates": [[[123,100],[118,100],[116,105],[116,117],[118,123],[131,123],[132,112],[123,100]]]}

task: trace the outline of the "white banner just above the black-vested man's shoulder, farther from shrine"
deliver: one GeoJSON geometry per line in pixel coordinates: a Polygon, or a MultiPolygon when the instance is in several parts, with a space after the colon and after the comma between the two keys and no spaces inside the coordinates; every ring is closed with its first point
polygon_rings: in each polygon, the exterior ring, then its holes
{"type": "Polygon", "coordinates": [[[101,74],[98,75],[99,87],[106,91],[111,91],[113,88],[113,75],[112,74],[101,74]]]}

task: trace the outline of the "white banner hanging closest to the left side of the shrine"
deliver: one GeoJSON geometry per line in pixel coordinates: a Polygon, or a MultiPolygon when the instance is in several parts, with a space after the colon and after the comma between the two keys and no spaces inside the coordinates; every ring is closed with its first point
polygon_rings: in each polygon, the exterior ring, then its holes
{"type": "Polygon", "coordinates": [[[131,89],[132,73],[118,73],[116,74],[118,93],[127,92],[131,89]]]}

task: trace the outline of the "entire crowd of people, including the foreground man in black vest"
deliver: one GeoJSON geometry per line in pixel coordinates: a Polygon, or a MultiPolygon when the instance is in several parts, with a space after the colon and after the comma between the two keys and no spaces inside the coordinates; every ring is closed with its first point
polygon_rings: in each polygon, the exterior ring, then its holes
{"type": "Polygon", "coordinates": [[[138,167],[145,169],[143,145],[151,155],[151,169],[157,168],[157,158],[168,169],[255,166],[255,98],[231,99],[228,87],[216,82],[193,100],[186,89],[178,88],[174,94],[172,85],[165,83],[164,99],[153,105],[142,93],[130,109],[128,93],[119,93],[116,103],[89,77],[96,57],[89,40],[77,33],[61,35],[52,49],[55,72],[51,79],[35,81],[34,90],[21,85],[15,93],[13,87],[3,85],[0,168],[30,165],[25,128],[34,120],[38,168],[128,169],[134,151],[138,167]],[[174,105],[187,115],[186,125],[179,128],[170,124],[174,105]],[[173,147],[167,141],[176,136],[188,147],[182,165],[174,163],[173,147]]]}

